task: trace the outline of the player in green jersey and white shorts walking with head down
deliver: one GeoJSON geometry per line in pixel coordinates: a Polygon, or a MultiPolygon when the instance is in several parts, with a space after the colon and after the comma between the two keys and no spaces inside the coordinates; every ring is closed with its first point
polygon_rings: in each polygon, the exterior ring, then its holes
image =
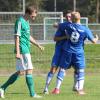
{"type": "Polygon", "coordinates": [[[13,84],[19,75],[25,74],[26,84],[31,97],[41,98],[34,90],[34,82],[32,77],[33,65],[30,55],[30,42],[37,46],[40,50],[44,48],[40,46],[30,35],[29,20],[34,20],[37,16],[37,8],[34,5],[28,6],[25,15],[17,19],[15,23],[15,53],[16,53],[16,69],[9,79],[0,88],[0,97],[4,98],[4,92],[7,87],[13,84]]]}

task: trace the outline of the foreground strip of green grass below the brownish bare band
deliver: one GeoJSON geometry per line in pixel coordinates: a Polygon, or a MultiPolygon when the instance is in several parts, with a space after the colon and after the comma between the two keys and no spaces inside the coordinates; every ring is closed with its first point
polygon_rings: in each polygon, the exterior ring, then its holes
{"type": "MultiPolygon", "coordinates": [[[[2,84],[8,77],[0,77],[0,84],[2,84]]],[[[100,76],[99,73],[86,73],[85,91],[86,95],[80,96],[72,91],[73,75],[68,73],[61,86],[61,93],[59,95],[43,95],[43,88],[45,84],[44,76],[34,76],[35,90],[43,98],[39,100],[98,100],[100,98],[100,76]]],[[[55,78],[50,84],[49,90],[55,86],[55,78]]],[[[27,86],[24,77],[20,77],[16,83],[9,86],[5,93],[5,100],[35,100],[28,94],[27,86]]]]}

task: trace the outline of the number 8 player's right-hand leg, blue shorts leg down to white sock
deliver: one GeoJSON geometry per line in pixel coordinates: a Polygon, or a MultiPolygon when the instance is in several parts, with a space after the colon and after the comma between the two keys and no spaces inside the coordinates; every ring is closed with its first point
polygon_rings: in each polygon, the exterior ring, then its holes
{"type": "MultiPolygon", "coordinates": [[[[75,55],[74,55],[75,57],[75,55]]],[[[74,60],[75,62],[75,83],[74,89],[81,95],[85,94],[84,92],[84,77],[85,77],[85,58],[84,54],[77,54],[74,60]]]]}

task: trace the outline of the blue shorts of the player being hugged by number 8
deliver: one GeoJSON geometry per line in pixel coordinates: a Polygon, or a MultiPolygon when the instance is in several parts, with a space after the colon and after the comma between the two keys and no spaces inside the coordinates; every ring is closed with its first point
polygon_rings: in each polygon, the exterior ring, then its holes
{"type": "Polygon", "coordinates": [[[55,48],[55,53],[52,58],[51,67],[58,67],[61,60],[62,48],[58,46],[55,48]]]}

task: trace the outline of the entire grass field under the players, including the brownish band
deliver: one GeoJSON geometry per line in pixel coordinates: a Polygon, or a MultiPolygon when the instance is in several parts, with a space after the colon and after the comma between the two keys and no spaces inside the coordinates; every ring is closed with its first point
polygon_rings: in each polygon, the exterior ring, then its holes
{"type": "MultiPolygon", "coordinates": [[[[0,45],[0,85],[8,78],[8,73],[15,70],[14,45],[0,45]]],[[[41,100],[98,100],[100,97],[100,44],[85,46],[86,55],[86,79],[85,96],[79,96],[72,91],[73,70],[69,70],[61,87],[60,95],[43,95],[43,87],[47,71],[49,71],[54,45],[45,45],[45,51],[40,52],[36,47],[32,47],[32,61],[35,67],[35,89],[43,96],[41,100]]],[[[55,86],[55,78],[50,85],[50,91],[55,86]]],[[[6,91],[5,100],[33,100],[29,97],[24,77],[10,86],[6,91]]]]}

